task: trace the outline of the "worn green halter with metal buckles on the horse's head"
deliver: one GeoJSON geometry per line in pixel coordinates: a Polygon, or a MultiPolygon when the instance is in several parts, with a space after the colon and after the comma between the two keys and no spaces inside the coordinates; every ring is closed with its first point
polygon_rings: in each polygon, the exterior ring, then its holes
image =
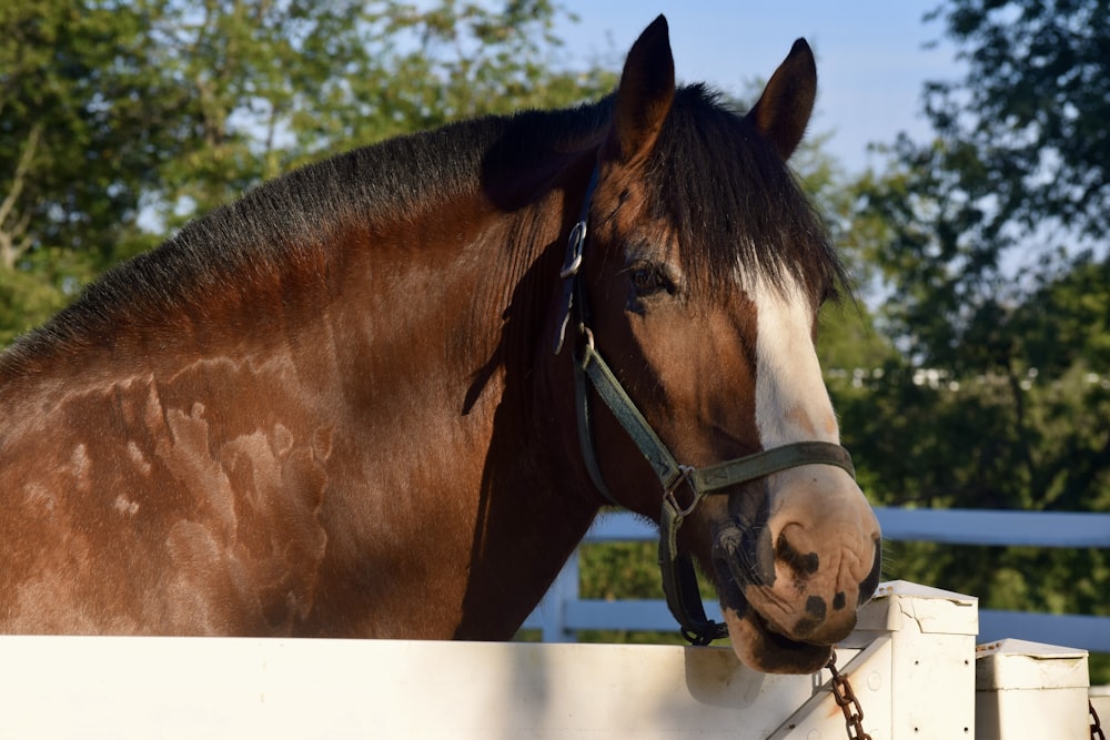
{"type": "Polygon", "coordinates": [[[659,516],[659,570],[667,607],[682,626],[683,637],[694,645],[708,645],[713,640],[727,637],[728,628],[706,617],[698,592],[694,560],[688,553],[678,549],[678,530],[686,517],[706,496],[722,494],[731,486],[764,478],[780,470],[801,465],[834,465],[847,470],[852,478],[856,477],[856,470],[847,449],[838,444],[817,440],[795,442],[702,468],[680,465],[675,459],[594,346],[586,288],[583,281],[578,280],[578,272],[582,267],[586,222],[597,179],[598,169],[595,166],[586,187],[578,222],[571,230],[567,241],[566,259],[559,272],[559,277],[563,280],[563,295],[553,349],[555,354],[562,351],[566,326],[571,315],[575,314],[578,341],[575,343],[574,353],[574,395],[578,417],[578,444],[586,470],[594,486],[609,503],[623,506],[605,485],[597,463],[591,423],[588,383],[639,448],[659,479],[663,487],[663,511],[659,516]],[[682,488],[689,489],[692,494],[686,505],[678,500],[682,488]]]}

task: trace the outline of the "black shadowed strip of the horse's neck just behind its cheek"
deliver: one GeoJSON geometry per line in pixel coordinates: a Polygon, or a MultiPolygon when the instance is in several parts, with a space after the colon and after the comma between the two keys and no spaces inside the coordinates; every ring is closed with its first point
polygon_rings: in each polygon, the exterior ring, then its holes
{"type": "Polygon", "coordinates": [[[558,235],[566,232],[562,212],[575,210],[576,203],[536,203],[515,213],[507,234],[544,239],[495,236],[494,243],[512,244],[515,254],[498,255],[491,263],[503,268],[482,276],[498,286],[481,291],[497,296],[490,305],[496,306],[497,327],[491,379],[498,389],[455,632],[461,639],[511,637],[598,510],[576,463],[571,353],[556,356],[551,349],[563,257],[558,235]],[[551,223],[537,229],[543,220],[551,223]]]}

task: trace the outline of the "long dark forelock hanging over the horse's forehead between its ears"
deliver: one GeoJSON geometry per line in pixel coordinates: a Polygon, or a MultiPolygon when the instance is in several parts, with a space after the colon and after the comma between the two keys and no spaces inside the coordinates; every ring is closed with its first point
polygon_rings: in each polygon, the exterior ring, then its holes
{"type": "Polygon", "coordinates": [[[755,125],[696,84],[678,90],[647,163],[650,207],[668,221],[683,273],[710,297],[800,283],[814,302],[847,290],[820,214],[755,125]]]}

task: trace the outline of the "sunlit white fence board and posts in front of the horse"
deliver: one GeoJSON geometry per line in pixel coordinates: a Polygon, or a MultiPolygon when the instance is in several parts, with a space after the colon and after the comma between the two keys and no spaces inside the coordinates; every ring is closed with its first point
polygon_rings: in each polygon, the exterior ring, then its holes
{"type": "MultiPolygon", "coordinates": [[[[977,651],[976,599],[896,581],[837,663],[882,740],[1080,740],[1087,653],[977,651]]],[[[847,737],[828,671],[729,648],[0,636],[0,738],[811,740],[847,737]]]]}

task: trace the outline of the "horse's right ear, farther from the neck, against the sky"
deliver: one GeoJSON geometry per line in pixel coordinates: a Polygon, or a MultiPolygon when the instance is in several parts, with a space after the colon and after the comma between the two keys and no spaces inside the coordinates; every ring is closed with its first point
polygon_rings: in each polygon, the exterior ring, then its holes
{"type": "Polygon", "coordinates": [[[770,82],[747,118],[786,161],[801,143],[816,98],[817,63],[814,52],[805,39],[798,39],[770,75],[770,82]]]}

